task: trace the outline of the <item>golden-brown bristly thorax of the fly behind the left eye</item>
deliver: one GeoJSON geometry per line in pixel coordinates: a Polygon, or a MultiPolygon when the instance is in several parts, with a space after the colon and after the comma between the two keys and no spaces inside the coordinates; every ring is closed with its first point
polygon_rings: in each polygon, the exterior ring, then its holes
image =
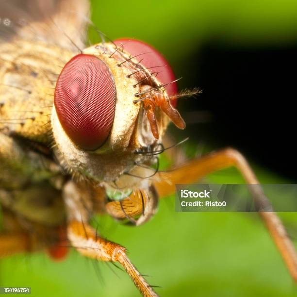
{"type": "Polygon", "coordinates": [[[55,82],[73,55],[43,42],[0,44],[0,131],[50,143],[55,82]]]}

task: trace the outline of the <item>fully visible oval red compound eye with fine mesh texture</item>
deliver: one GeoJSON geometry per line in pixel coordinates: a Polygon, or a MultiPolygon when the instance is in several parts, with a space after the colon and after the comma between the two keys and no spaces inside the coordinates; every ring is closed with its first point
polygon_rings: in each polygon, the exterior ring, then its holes
{"type": "Polygon", "coordinates": [[[63,68],[54,104],[70,139],[81,148],[94,150],[112,129],[115,99],[115,82],[109,68],[95,56],[79,54],[63,68]]]}

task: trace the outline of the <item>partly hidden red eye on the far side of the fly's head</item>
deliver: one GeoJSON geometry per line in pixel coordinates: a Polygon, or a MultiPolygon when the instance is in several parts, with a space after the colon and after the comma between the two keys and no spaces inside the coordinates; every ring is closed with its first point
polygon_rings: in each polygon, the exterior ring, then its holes
{"type": "MultiPolygon", "coordinates": [[[[141,61],[141,64],[147,68],[152,66],[165,66],[155,68],[153,67],[149,69],[151,73],[159,72],[157,79],[163,84],[175,81],[175,76],[169,63],[165,60],[165,58],[162,56],[160,52],[158,52],[156,49],[154,49],[147,43],[144,43],[136,39],[121,38],[116,39],[115,44],[117,46],[120,46],[122,44],[124,49],[128,51],[130,54],[132,54],[132,56],[145,53],[143,55],[138,56],[136,59],[138,59],[139,61],[143,59],[141,61]]],[[[165,88],[169,96],[173,96],[178,92],[176,82],[166,85],[165,88]]],[[[171,104],[175,107],[176,100],[171,100],[171,104]]]]}

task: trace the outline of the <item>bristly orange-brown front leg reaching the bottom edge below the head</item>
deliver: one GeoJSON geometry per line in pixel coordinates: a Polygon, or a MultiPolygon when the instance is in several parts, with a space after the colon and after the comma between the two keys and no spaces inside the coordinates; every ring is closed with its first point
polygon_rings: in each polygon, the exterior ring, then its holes
{"type": "Polygon", "coordinates": [[[64,188],[64,200],[68,213],[67,237],[79,253],[101,261],[118,262],[123,266],[143,296],[158,296],[138,272],[126,254],[126,248],[99,236],[89,224],[91,191],[88,187],[69,181],[64,188]],[[82,201],[83,194],[83,201],[82,201]]]}

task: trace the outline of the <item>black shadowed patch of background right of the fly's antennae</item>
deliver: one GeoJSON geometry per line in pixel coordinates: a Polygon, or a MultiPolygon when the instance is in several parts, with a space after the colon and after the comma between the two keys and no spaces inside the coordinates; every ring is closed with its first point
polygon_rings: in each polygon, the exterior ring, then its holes
{"type": "Polygon", "coordinates": [[[296,54],[297,44],[241,49],[208,43],[198,59],[188,57],[187,71],[177,69],[180,87],[203,89],[197,99],[179,103],[191,139],[238,148],[296,180],[296,54]]]}

